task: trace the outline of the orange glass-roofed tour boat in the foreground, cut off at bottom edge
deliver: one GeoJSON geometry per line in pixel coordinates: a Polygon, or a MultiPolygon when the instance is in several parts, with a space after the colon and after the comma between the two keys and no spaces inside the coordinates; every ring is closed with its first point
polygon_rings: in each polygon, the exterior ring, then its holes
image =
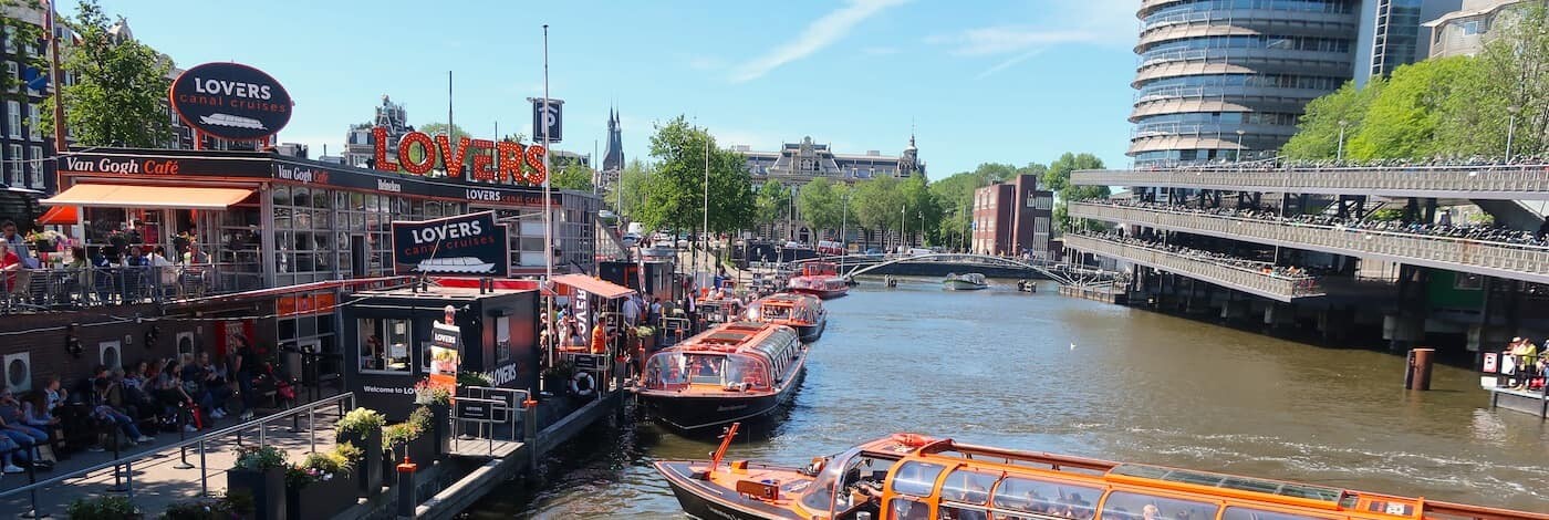
{"type": "Polygon", "coordinates": [[[959,444],[898,433],[815,458],[807,467],[665,460],[683,511],[697,518],[1072,518],[1092,520],[1549,520],[1468,506],[1255,477],[959,444]]]}

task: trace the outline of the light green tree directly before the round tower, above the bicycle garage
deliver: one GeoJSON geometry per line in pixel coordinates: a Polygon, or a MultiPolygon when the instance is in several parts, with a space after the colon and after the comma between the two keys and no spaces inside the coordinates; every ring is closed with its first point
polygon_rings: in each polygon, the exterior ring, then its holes
{"type": "Polygon", "coordinates": [[[1314,99],[1307,104],[1306,113],[1297,125],[1297,133],[1290,136],[1290,141],[1286,141],[1279,153],[1290,159],[1335,158],[1341,127],[1348,147],[1349,138],[1360,132],[1372,99],[1377,99],[1386,84],[1383,77],[1372,77],[1365,88],[1355,88],[1354,82],[1346,82],[1338,90],[1314,99]]]}

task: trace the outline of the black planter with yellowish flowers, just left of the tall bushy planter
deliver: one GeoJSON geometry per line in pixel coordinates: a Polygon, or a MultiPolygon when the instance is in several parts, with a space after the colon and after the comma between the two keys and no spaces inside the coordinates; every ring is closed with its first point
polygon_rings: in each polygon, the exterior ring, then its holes
{"type": "Polygon", "coordinates": [[[361,450],[349,443],[331,452],[308,453],[285,470],[285,515],[331,518],[355,503],[355,460],[361,450]]]}

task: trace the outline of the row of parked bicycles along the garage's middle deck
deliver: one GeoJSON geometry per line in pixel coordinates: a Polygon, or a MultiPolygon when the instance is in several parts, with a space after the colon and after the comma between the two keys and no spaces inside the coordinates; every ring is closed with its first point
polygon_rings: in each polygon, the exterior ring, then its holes
{"type": "Polygon", "coordinates": [[[1329,229],[1380,231],[1393,234],[1461,238],[1473,241],[1489,241],[1503,246],[1549,248],[1549,218],[1544,218],[1544,221],[1535,231],[1520,231],[1501,224],[1482,226],[1482,224],[1455,223],[1450,209],[1442,209],[1434,223],[1419,223],[1419,221],[1403,223],[1403,221],[1371,220],[1371,218],[1340,218],[1337,215],[1324,215],[1324,214],[1281,217],[1279,212],[1273,209],[1194,207],[1194,206],[1166,204],[1166,203],[1146,203],[1139,200],[1087,200],[1083,203],[1125,206],[1125,207],[1137,207],[1149,210],[1168,210],[1177,214],[1196,214],[1210,217],[1248,218],[1248,220],[1261,220],[1261,221],[1298,224],[1298,226],[1320,226],[1329,229]]]}

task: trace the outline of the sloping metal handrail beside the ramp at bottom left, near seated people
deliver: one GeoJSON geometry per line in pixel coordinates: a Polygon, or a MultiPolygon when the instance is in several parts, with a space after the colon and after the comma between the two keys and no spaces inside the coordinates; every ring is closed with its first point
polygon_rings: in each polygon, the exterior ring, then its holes
{"type": "MultiPolygon", "coordinates": [[[[56,474],[54,477],[50,477],[46,480],[34,481],[34,483],[29,483],[26,486],[20,486],[20,488],[14,488],[14,489],[6,489],[6,491],[0,492],[0,500],[6,500],[6,498],[11,498],[11,497],[19,497],[22,494],[28,494],[29,500],[31,500],[31,506],[33,506],[33,509],[29,512],[33,514],[34,518],[43,518],[43,517],[46,517],[46,514],[39,509],[37,491],[40,491],[43,488],[56,486],[56,484],[67,484],[68,486],[68,483],[65,483],[67,480],[87,478],[91,474],[96,474],[96,472],[101,472],[101,470],[113,470],[115,477],[118,474],[122,474],[125,477],[124,478],[122,492],[129,497],[129,500],[135,500],[135,477],[133,475],[135,475],[135,463],[136,461],[143,461],[146,458],[160,458],[161,453],[167,453],[167,452],[177,450],[180,453],[178,457],[180,457],[180,460],[183,463],[181,463],[181,466],[173,466],[173,469],[194,469],[194,464],[187,463],[187,455],[189,455],[187,450],[189,449],[195,449],[197,453],[198,453],[200,495],[201,497],[209,497],[211,495],[209,494],[209,464],[206,464],[206,455],[208,455],[206,444],[209,444],[212,441],[217,441],[220,438],[225,438],[225,436],[231,436],[231,435],[237,435],[237,444],[242,444],[242,435],[243,435],[243,432],[257,429],[259,430],[259,446],[268,446],[268,429],[270,429],[271,422],[277,422],[280,419],[291,419],[291,430],[294,432],[294,430],[299,430],[299,427],[301,427],[301,415],[307,415],[307,430],[308,430],[308,436],[310,436],[310,447],[311,447],[313,452],[316,452],[318,450],[318,409],[322,409],[322,407],[339,407],[338,415],[342,416],[344,410],[355,409],[355,393],[353,392],[345,392],[345,393],[341,393],[341,395],[336,395],[336,396],[331,396],[331,398],[318,399],[318,401],[308,402],[305,405],[299,405],[299,407],[288,409],[288,410],[283,410],[283,412],[279,412],[279,413],[273,413],[273,415],[254,419],[254,421],[234,424],[234,426],[215,430],[215,432],[209,432],[209,433],[200,435],[197,438],[181,440],[181,441],[173,443],[170,446],[163,446],[163,447],[150,449],[150,450],[133,453],[133,455],[127,455],[127,457],[116,457],[116,458],[113,458],[110,461],[105,461],[105,463],[101,463],[101,464],[93,464],[93,466],[88,466],[85,469],[77,469],[77,470],[71,470],[71,472],[67,472],[67,474],[56,474]]],[[[116,432],[116,429],[115,429],[115,432],[116,432]]]]}

